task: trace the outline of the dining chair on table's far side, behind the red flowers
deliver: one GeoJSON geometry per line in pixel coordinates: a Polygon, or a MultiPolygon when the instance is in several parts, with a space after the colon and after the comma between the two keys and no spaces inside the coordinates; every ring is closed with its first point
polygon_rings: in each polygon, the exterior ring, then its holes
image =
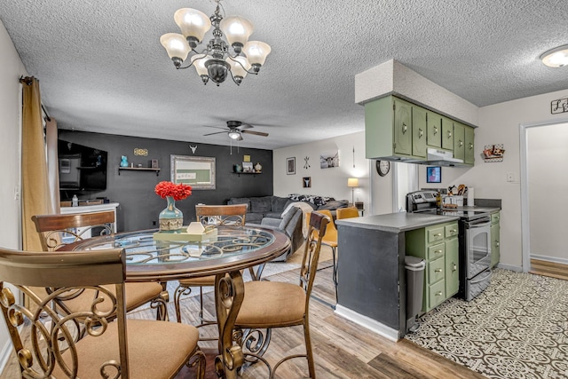
{"type": "MultiPolygon", "coordinates": [[[[202,205],[195,206],[195,215],[197,221],[201,222],[203,226],[209,225],[245,225],[245,218],[247,214],[248,204],[233,204],[233,205],[202,205]]],[[[214,287],[215,275],[209,275],[202,278],[187,278],[180,279],[179,285],[174,292],[174,304],[176,307],[177,322],[181,322],[181,298],[189,296],[192,292],[192,287],[199,287],[200,298],[200,326],[217,324],[217,320],[205,320],[203,318],[203,287],[214,287]]]]}

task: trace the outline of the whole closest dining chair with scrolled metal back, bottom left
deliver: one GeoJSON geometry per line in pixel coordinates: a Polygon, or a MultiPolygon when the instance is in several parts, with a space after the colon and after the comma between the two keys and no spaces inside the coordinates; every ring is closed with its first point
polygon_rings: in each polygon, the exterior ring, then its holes
{"type": "Polygon", "coordinates": [[[0,307],[21,378],[170,379],[184,366],[204,377],[196,328],[126,319],[125,262],[122,249],[45,254],[0,248],[0,307]],[[49,295],[37,296],[36,287],[50,288],[49,295]],[[13,288],[28,305],[16,300],[13,288]],[[82,309],[57,312],[86,290],[93,296],[82,309]]]}

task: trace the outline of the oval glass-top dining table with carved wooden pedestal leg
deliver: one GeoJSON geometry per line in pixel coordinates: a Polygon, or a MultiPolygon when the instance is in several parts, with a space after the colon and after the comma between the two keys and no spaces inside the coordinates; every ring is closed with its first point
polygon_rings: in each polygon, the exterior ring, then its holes
{"type": "Polygon", "coordinates": [[[218,226],[215,233],[203,241],[179,241],[184,237],[177,233],[155,234],[157,232],[146,230],[93,237],[59,250],[122,248],[126,255],[126,281],[163,283],[216,275],[219,341],[215,370],[218,377],[236,379],[244,363],[241,346],[233,341],[234,320],[244,298],[241,270],[256,265],[262,267],[286,252],[290,248],[288,236],[276,230],[246,225],[218,226]]]}

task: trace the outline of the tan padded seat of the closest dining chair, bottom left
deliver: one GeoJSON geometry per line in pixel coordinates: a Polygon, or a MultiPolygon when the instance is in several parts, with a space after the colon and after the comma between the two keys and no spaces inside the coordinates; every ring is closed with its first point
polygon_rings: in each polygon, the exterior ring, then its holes
{"type": "MultiPolygon", "coordinates": [[[[189,325],[169,321],[127,320],[130,377],[136,379],[172,378],[195,350],[199,332],[189,325]],[[165,372],[164,367],[176,367],[165,372]]],[[[118,360],[118,323],[111,322],[104,334],[85,336],[75,344],[79,361],[118,360]]],[[[64,354],[66,362],[70,354],[64,354]]],[[[67,377],[59,366],[54,377],[67,377]]],[[[99,378],[99,364],[80,365],[78,377],[99,378]]]]}

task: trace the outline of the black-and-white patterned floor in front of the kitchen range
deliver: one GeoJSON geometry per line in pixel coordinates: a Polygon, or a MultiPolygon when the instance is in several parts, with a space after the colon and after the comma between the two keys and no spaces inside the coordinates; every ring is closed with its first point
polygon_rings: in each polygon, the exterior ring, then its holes
{"type": "Polygon", "coordinates": [[[406,339],[489,378],[568,378],[568,281],[496,269],[467,303],[451,298],[406,339]]]}

